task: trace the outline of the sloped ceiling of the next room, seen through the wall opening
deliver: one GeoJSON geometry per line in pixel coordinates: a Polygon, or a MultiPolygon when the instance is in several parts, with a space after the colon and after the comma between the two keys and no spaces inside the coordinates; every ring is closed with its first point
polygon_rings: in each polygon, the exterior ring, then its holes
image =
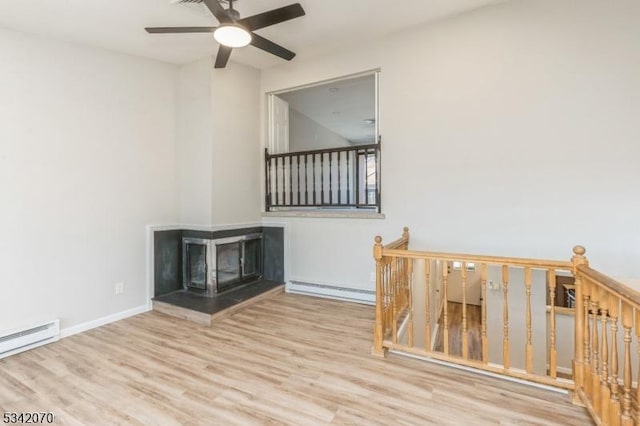
{"type": "Polygon", "coordinates": [[[374,143],[376,115],[373,74],[280,93],[289,107],[352,143],[374,143]]]}

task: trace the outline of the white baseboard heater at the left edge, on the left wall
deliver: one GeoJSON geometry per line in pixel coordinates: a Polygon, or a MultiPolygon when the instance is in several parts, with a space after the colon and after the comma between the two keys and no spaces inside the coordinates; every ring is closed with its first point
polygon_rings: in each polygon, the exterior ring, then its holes
{"type": "Polygon", "coordinates": [[[60,338],[60,320],[39,322],[29,327],[0,332],[0,359],[60,338]]]}

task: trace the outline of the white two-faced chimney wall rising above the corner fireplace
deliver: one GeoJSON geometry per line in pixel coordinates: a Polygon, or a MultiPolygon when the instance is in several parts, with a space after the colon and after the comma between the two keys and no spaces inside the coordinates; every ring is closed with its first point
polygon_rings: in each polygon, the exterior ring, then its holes
{"type": "Polygon", "coordinates": [[[180,67],[177,159],[180,222],[229,225],[260,221],[258,70],[211,58],[180,67]]]}

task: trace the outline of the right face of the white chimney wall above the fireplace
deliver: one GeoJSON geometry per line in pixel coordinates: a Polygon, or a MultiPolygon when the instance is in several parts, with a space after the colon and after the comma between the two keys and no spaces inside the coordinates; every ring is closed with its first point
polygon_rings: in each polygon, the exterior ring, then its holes
{"type": "Polygon", "coordinates": [[[214,225],[260,221],[260,73],[230,63],[211,73],[214,225]]]}

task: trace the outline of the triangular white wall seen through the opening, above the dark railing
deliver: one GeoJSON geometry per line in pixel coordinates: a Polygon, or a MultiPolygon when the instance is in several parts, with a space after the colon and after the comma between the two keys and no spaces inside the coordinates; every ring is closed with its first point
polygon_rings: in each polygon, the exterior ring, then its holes
{"type": "Polygon", "coordinates": [[[348,140],[301,112],[289,108],[289,151],[309,151],[345,146],[351,146],[348,140]]]}

